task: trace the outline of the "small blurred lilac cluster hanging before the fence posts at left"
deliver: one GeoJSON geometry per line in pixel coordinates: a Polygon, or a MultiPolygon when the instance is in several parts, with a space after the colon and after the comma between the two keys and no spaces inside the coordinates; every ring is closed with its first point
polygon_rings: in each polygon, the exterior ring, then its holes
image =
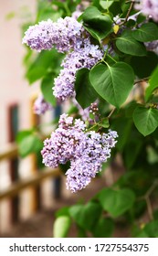
{"type": "Polygon", "coordinates": [[[37,100],[34,102],[33,111],[37,114],[44,114],[45,112],[50,111],[52,109],[52,105],[45,101],[42,95],[39,96],[37,100]]]}

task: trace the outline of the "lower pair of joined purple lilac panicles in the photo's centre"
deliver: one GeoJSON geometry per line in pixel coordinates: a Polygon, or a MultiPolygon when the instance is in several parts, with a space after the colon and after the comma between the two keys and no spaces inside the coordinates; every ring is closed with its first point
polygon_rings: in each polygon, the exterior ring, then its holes
{"type": "Polygon", "coordinates": [[[101,170],[103,162],[111,156],[111,148],[116,144],[118,134],[88,132],[80,119],[73,120],[67,114],[59,119],[58,129],[45,140],[42,150],[43,163],[50,167],[66,164],[67,188],[77,192],[86,187],[92,177],[101,170]]]}

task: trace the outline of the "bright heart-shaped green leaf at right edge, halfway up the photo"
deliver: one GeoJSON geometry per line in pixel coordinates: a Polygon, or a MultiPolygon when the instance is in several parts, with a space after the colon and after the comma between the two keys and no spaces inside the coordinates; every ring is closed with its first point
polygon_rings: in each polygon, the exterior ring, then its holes
{"type": "Polygon", "coordinates": [[[133,112],[133,122],[143,136],[153,133],[158,127],[158,110],[137,107],[133,112]]]}

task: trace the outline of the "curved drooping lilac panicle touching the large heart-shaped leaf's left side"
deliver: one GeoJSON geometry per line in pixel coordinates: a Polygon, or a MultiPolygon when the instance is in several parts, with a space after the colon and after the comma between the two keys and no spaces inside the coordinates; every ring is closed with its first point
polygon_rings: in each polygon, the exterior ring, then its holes
{"type": "Polygon", "coordinates": [[[58,77],[54,80],[53,94],[58,101],[65,101],[75,96],[74,82],[79,69],[92,68],[103,57],[99,46],[90,44],[90,38],[85,38],[84,43],[78,44],[76,50],[69,52],[63,60],[58,77]]]}

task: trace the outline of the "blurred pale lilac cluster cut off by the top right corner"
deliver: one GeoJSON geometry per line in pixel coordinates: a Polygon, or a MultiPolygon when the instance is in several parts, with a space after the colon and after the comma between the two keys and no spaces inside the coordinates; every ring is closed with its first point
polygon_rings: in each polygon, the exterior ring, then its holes
{"type": "Polygon", "coordinates": [[[158,1],[157,0],[140,0],[135,4],[135,8],[142,11],[146,16],[151,16],[154,21],[158,21],[158,1]]]}

